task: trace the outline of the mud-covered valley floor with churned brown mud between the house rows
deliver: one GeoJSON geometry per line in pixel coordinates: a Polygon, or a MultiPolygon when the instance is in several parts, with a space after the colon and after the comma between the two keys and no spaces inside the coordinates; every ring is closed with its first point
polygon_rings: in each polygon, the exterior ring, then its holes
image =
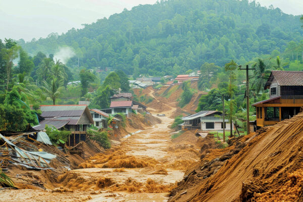
{"type": "MultiPolygon", "coordinates": [[[[154,91],[149,95],[154,96],[154,91]]],[[[85,162],[78,159],[77,168],[71,171],[63,174],[41,171],[39,176],[48,179],[45,190],[29,185],[19,190],[2,190],[1,200],[166,201],[189,165],[199,161],[200,145],[193,132],[172,141],[168,126],[173,122],[170,117],[177,111],[176,103],[168,105],[156,97],[154,102],[157,102],[156,109],[149,107],[148,110],[154,115],[166,114],[157,117],[161,123],[151,115],[135,117],[126,129],[135,133],[138,128],[140,132],[124,137],[127,132],[120,131],[120,144],[94,154],[85,162]]]]}

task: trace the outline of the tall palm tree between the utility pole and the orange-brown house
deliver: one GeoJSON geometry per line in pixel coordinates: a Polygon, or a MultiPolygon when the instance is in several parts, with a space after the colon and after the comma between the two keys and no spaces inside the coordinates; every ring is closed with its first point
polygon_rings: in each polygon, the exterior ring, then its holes
{"type": "Polygon", "coordinates": [[[263,87],[271,73],[271,70],[268,69],[268,66],[265,65],[265,63],[261,59],[258,59],[258,62],[253,67],[255,68],[254,87],[256,89],[256,93],[258,94],[261,89],[263,91],[263,87]]]}

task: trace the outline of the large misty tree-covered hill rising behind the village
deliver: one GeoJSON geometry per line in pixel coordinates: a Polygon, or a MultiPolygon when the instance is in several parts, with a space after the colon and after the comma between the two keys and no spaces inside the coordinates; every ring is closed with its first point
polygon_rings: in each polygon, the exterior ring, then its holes
{"type": "Polygon", "coordinates": [[[205,62],[245,64],[291,49],[303,40],[299,18],[247,0],[169,0],[124,10],[62,35],[18,42],[33,55],[70,46],[76,53],[70,67],[78,66],[79,58],[80,66],[89,69],[179,74],[205,62]]]}

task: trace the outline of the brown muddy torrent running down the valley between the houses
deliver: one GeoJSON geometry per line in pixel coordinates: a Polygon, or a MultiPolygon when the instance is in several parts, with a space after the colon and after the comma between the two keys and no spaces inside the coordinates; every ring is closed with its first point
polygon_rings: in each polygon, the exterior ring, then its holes
{"type": "MultiPolygon", "coordinates": [[[[88,168],[72,170],[60,176],[58,187],[61,188],[57,189],[58,192],[41,189],[2,190],[1,200],[167,201],[168,192],[183,178],[186,165],[198,161],[198,157],[191,145],[184,146],[180,142],[171,141],[168,125],[173,119],[169,116],[176,109],[161,101],[159,103],[168,109],[161,113],[166,114],[166,117],[159,117],[161,124],[123,139],[116,148],[118,151],[108,154],[113,156],[96,156],[87,162],[90,165],[88,168]],[[179,147],[183,149],[177,149],[179,147]],[[118,155],[115,156],[115,152],[118,155]],[[109,166],[110,161],[102,162],[106,158],[115,160],[114,164],[130,159],[129,163],[139,162],[143,166],[121,166],[124,168],[119,169],[117,166],[109,166]]],[[[159,112],[150,108],[148,110],[159,112]]]]}

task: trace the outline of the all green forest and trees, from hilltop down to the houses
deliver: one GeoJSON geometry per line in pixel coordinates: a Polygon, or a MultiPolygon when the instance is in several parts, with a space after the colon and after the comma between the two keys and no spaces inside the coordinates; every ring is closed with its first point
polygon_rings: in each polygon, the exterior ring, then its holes
{"type": "MultiPolygon", "coordinates": [[[[89,107],[105,109],[114,93],[131,91],[129,77],[193,70],[201,70],[198,88],[209,92],[197,111],[222,110],[225,94],[229,118],[245,119],[245,76],[238,65],[256,69],[250,71],[251,103],[266,99],[263,86],[271,70],[303,70],[302,33],[299,16],[256,2],[170,0],[62,35],[0,40],[0,130],[35,125],[40,104],[89,100],[89,107]],[[60,61],[56,56],[64,48],[69,56],[60,61]],[[96,71],[108,68],[115,71],[96,71]],[[68,85],[75,80],[81,83],[68,85]]],[[[182,108],[196,89],[188,82],[181,87],[182,108]]]]}

